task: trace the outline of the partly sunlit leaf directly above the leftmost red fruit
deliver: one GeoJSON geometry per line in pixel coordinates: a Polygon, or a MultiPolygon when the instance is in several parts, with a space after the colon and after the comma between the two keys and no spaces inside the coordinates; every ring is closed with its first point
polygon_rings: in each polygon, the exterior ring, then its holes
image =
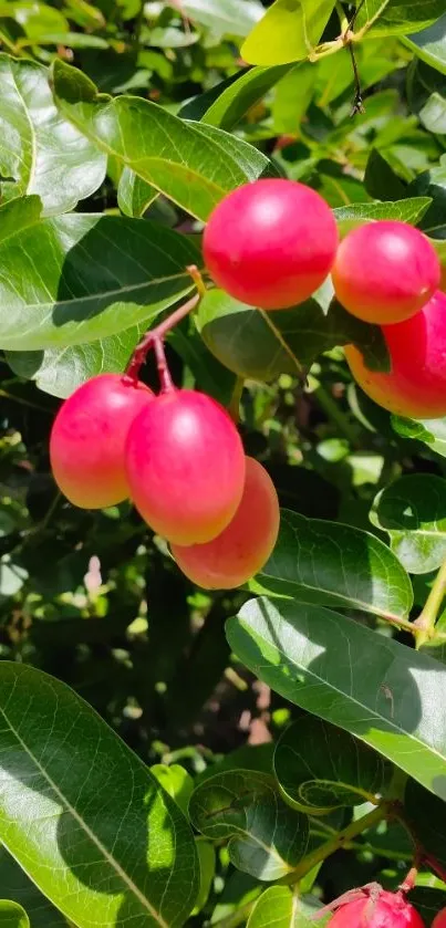
{"type": "Polygon", "coordinates": [[[40,352],[6,352],[11,369],[39,389],[65,399],[76,387],[97,374],[121,374],[132,356],[145,326],[134,325],[118,335],[97,342],[48,348],[40,352]]]}

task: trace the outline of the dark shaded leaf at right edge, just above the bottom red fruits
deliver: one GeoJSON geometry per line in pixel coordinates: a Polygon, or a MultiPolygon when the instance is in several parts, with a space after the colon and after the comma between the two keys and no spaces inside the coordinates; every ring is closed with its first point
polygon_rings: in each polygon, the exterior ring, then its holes
{"type": "Polygon", "coordinates": [[[433,796],[419,783],[408,780],[404,794],[404,811],[411,827],[427,853],[443,866],[446,865],[446,806],[437,796],[444,797],[445,784],[445,778],[438,776],[437,795],[433,796]]]}

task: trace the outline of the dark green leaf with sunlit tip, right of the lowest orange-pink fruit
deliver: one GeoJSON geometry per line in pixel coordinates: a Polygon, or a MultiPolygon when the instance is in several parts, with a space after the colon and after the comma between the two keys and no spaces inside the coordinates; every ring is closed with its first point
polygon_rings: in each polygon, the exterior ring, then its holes
{"type": "Polygon", "coordinates": [[[257,576],[262,590],[305,603],[353,608],[384,618],[408,615],[411,581],[375,535],[281,510],[274,552],[257,576]]]}

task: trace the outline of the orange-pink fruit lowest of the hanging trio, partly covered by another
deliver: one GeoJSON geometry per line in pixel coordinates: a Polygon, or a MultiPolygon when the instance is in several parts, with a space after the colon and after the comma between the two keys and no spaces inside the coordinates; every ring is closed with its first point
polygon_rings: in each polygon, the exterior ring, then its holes
{"type": "Polygon", "coordinates": [[[246,459],[240,505],[229,525],[207,544],[172,545],[186,576],[205,590],[232,590],[258,573],[274,548],[280,512],[274,484],[253,458],[246,459]]]}

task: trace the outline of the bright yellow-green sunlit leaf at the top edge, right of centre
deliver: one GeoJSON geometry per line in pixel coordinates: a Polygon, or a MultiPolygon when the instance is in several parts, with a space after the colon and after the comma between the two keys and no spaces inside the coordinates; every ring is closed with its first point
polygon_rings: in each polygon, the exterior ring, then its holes
{"type": "Polygon", "coordinates": [[[276,0],[241,46],[249,64],[286,64],[308,58],[330,19],[334,0],[276,0]]]}

